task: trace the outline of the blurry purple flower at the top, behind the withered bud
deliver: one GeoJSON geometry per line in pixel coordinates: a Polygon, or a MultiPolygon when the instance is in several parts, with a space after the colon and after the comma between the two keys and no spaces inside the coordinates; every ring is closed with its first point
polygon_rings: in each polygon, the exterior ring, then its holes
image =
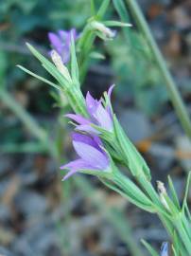
{"type": "Polygon", "coordinates": [[[63,64],[67,64],[70,60],[71,35],[73,35],[74,40],[77,40],[78,35],[75,28],[69,31],[59,30],[57,33],[48,33],[50,44],[61,56],[63,64]]]}

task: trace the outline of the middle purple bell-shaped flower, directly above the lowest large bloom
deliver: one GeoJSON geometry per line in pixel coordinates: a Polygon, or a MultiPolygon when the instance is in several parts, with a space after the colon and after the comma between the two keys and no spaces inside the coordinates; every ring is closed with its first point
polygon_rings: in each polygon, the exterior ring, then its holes
{"type": "Polygon", "coordinates": [[[99,132],[91,125],[96,124],[100,128],[109,132],[113,131],[113,110],[111,105],[111,94],[113,91],[112,85],[107,93],[105,101],[100,99],[97,101],[88,92],[86,95],[86,108],[90,119],[85,119],[80,115],[67,114],[66,117],[75,120],[78,131],[83,131],[90,134],[98,134],[99,132]]]}

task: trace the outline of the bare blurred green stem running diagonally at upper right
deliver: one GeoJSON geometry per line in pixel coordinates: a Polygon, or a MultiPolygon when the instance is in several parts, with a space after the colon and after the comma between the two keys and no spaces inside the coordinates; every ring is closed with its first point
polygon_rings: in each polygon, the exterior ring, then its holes
{"type": "Polygon", "coordinates": [[[172,101],[172,104],[175,108],[177,116],[179,117],[182,123],[182,128],[184,129],[187,136],[191,138],[191,122],[190,122],[189,115],[182,101],[180,93],[175,85],[175,82],[173,81],[173,78],[170,72],[168,71],[168,68],[165,64],[165,60],[159,50],[159,47],[155,43],[155,40],[150,32],[148,23],[143,15],[143,12],[139,8],[135,0],[126,0],[126,2],[128,7],[130,8],[130,11],[135,21],[137,22],[138,27],[140,28],[145,38],[147,39],[148,46],[152,51],[155,62],[156,64],[158,64],[161,70],[161,73],[165,79],[165,84],[166,84],[167,91],[169,93],[170,100],[172,101]]]}

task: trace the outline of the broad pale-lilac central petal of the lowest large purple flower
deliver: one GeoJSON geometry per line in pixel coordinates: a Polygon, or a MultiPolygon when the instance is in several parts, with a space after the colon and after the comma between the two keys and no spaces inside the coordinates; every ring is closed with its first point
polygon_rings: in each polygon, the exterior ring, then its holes
{"type": "Polygon", "coordinates": [[[109,159],[96,148],[82,142],[73,141],[77,154],[96,170],[105,170],[109,165],[109,159]]]}

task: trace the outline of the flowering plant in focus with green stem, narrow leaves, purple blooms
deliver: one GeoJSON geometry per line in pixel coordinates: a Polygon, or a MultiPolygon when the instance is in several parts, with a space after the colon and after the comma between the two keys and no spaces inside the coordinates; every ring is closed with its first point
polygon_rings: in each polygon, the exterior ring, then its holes
{"type": "MultiPolygon", "coordinates": [[[[109,1],[103,1],[102,9],[107,8],[107,3],[109,1]]],[[[94,99],[89,92],[84,99],[81,93],[76,47],[81,54],[80,50],[82,51],[85,39],[87,40],[87,33],[104,40],[113,39],[115,33],[106,25],[129,26],[114,21],[100,22],[94,17],[88,21],[79,38],[74,29],[69,33],[59,31],[59,35],[49,33],[54,48],[51,51],[53,63],[44,58],[33,46],[27,45],[59,85],[20,67],[30,75],[60,90],[75,112],[67,114],[66,117],[75,122],[72,143],[79,158],[61,166],[61,169],[68,170],[63,180],[76,173],[96,175],[103,184],[128,198],[132,204],[157,214],[171,238],[174,255],[187,256],[191,248],[191,218],[186,202],[190,174],[182,206],[170,177],[168,185],[171,196],[165,191],[162,182],[158,182],[157,192],[151,183],[151,174],[146,161],[130,142],[113,113],[111,103],[113,86],[100,100],[94,99]],[[120,171],[118,163],[126,167],[128,174],[120,171]]],[[[143,243],[152,255],[158,255],[147,242],[143,241],[143,243]]],[[[168,255],[168,244],[163,245],[161,255],[168,255]]]]}

